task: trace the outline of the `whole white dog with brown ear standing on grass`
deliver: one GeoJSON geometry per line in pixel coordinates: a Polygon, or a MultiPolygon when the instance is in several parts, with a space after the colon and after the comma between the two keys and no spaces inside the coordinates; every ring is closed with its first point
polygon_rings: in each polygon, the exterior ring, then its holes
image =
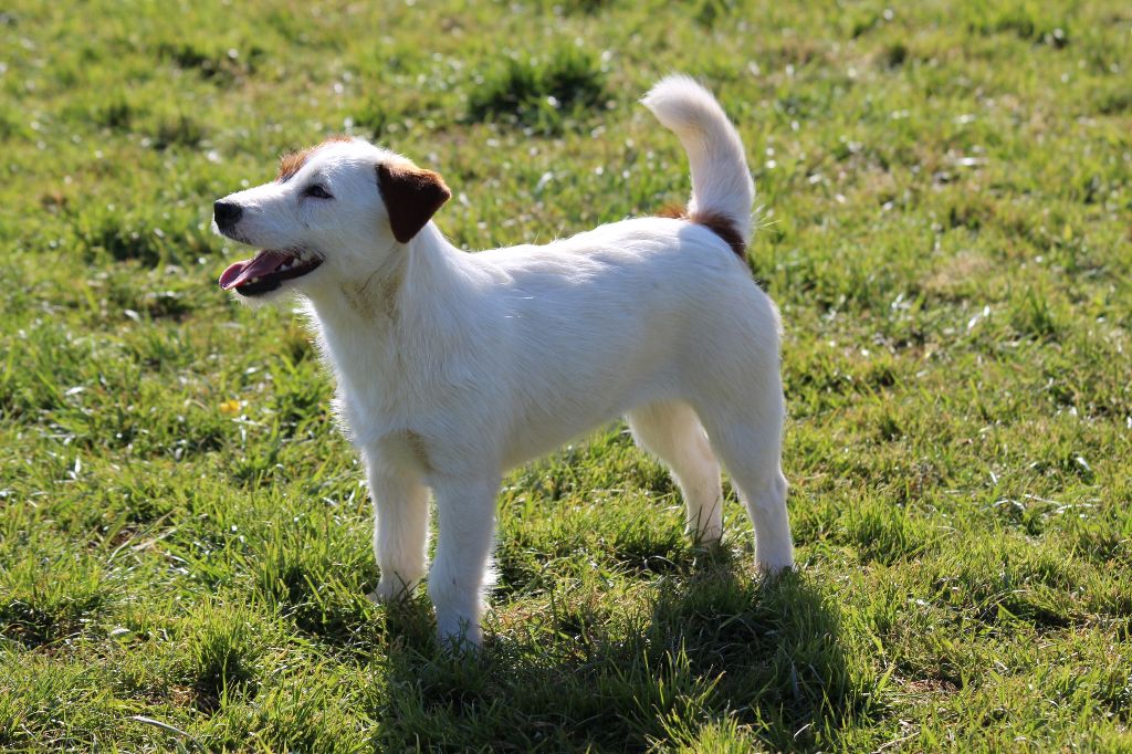
{"type": "Polygon", "coordinates": [[[691,163],[691,202],[670,216],[468,254],[432,222],[451,197],[440,175],[350,137],[286,155],[274,181],[214,205],[216,232],[263,249],[221,288],[298,297],[333,369],[374,500],[372,599],[424,579],[431,490],[428,593],[444,642],[482,641],[503,474],[619,415],[671,470],[689,535],[722,534],[722,462],[758,567],[792,567],[781,325],[744,258],[743,144],[688,77],[642,103],[691,163]]]}

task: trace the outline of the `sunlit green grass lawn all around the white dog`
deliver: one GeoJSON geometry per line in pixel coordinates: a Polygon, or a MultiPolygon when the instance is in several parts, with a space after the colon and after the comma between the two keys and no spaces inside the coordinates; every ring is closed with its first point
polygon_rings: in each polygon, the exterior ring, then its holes
{"type": "Polygon", "coordinates": [[[1130,751],[1132,11],[17,0],[0,14],[0,747],[1130,751]],[[515,471],[486,651],[378,608],[361,470],[212,202],[344,130],[469,248],[688,190],[717,91],[782,309],[799,572],[620,426],[515,471]]]}

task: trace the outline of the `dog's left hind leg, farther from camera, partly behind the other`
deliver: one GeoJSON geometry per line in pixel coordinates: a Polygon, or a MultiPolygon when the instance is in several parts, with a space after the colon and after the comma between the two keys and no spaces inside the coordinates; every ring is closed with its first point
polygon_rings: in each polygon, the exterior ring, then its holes
{"type": "Polygon", "coordinates": [[[684,492],[688,533],[710,545],[723,533],[723,492],[719,463],[707,436],[686,403],[653,403],[628,414],[633,436],[663,461],[684,492]]]}

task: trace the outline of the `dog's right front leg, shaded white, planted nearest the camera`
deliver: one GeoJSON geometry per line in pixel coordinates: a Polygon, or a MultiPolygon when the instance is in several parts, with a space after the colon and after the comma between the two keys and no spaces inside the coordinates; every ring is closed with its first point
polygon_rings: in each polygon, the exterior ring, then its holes
{"type": "Polygon", "coordinates": [[[428,591],[437,632],[452,644],[479,646],[483,588],[495,532],[500,477],[446,478],[434,483],[438,539],[428,591]]]}

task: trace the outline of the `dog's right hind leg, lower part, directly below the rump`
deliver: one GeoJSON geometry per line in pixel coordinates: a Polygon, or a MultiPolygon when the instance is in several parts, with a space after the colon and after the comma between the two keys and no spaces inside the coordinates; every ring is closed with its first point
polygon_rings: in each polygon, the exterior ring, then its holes
{"type": "Polygon", "coordinates": [[[764,403],[727,406],[729,410],[701,415],[711,446],[730,473],[755,525],[755,560],[761,569],[777,572],[794,566],[787,481],[781,465],[784,419],[781,392],[764,403]]]}

